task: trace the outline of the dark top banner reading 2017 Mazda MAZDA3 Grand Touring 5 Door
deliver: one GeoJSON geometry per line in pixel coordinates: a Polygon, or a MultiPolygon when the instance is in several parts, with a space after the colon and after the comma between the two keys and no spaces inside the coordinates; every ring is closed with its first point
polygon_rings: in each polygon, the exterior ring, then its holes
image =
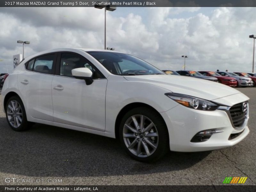
{"type": "Polygon", "coordinates": [[[0,7],[255,7],[245,0],[1,0],[0,7]]]}

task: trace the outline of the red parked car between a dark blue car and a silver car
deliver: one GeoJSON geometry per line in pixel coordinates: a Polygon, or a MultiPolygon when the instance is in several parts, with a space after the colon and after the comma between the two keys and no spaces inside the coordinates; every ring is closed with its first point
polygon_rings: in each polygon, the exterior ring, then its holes
{"type": "Polygon", "coordinates": [[[219,83],[228,85],[230,87],[237,87],[237,81],[233,77],[226,77],[226,76],[221,76],[220,74],[214,72],[214,71],[198,71],[204,76],[212,76],[216,77],[218,79],[219,83]]]}

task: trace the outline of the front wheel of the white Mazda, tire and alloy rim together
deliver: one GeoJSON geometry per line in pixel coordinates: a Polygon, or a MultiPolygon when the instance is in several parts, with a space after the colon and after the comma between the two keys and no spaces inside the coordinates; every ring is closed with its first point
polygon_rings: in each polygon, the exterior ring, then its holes
{"type": "Polygon", "coordinates": [[[126,152],[142,162],[156,161],[169,148],[169,137],[162,117],[147,107],[127,112],[120,124],[120,140],[126,152]]]}

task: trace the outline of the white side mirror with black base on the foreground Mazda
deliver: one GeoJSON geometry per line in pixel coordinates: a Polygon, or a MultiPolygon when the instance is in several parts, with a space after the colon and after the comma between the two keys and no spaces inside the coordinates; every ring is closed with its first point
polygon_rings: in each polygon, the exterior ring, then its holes
{"type": "Polygon", "coordinates": [[[75,68],[71,70],[73,77],[77,79],[84,79],[87,85],[92,84],[92,71],[88,68],[75,68]]]}

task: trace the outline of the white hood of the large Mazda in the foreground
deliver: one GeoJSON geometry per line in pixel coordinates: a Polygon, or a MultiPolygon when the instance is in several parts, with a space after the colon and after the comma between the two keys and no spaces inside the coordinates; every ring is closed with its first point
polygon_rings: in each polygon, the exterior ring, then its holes
{"type": "MultiPolygon", "coordinates": [[[[229,86],[206,81],[204,79],[191,78],[188,76],[175,75],[140,75],[124,76],[128,81],[145,82],[166,89],[167,92],[175,92],[185,95],[198,97],[205,100],[215,100],[241,93],[229,86]]],[[[150,94],[150,90],[149,90],[150,94]]],[[[242,94],[242,93],[241,93],[242,94]]]]}

